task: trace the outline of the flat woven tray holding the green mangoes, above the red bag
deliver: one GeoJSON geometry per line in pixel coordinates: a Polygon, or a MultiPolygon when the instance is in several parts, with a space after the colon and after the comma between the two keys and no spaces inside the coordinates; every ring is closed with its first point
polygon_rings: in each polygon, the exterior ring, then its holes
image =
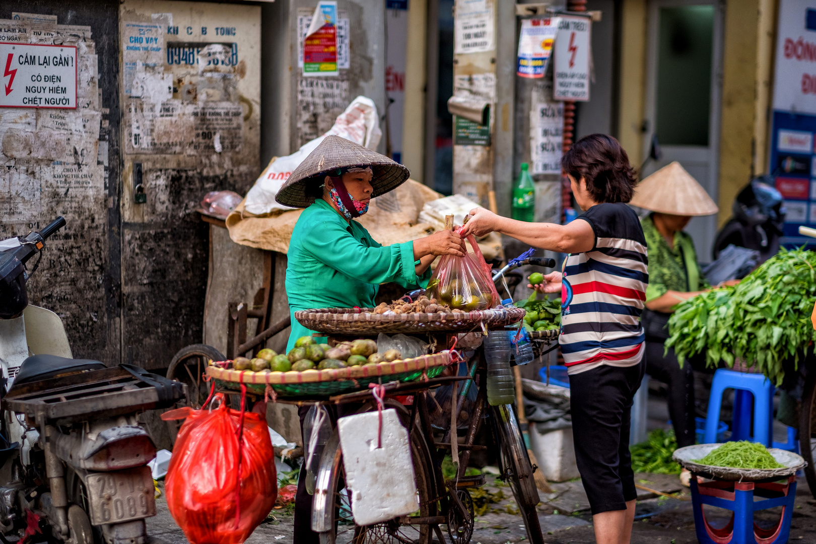
{"type": "Polygon", "coordinates": [[[395,360],[379,365],[348,366],[344,369],[304,370],[304,372],[252,372],[223,369],[217,364],[207,366],[206,374],[230,389],[246,384],[249,391],[264,394],[266,386],[282,396],[330,396],[366,389],[369,383],[410,382],[421,378],[436,378],[450,365],[448,350],[413,359],[395,360]]]}

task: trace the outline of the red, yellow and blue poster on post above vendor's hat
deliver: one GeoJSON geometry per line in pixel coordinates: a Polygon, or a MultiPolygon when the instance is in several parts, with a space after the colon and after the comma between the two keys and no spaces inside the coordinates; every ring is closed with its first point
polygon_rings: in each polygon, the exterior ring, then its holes
{"type": "Polygon", "coordinates": [[[304,39],[304,76],[337,76],[337,2],[317,3],[304,39]]]}

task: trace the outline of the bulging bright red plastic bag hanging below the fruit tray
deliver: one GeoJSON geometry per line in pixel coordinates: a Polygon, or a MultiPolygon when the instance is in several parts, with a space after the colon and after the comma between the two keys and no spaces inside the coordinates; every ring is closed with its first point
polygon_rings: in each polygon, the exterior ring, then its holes
{"type": "Polygon", "coordinates": [[[187,418],[167,469],[167,506],[191,544],[240,544],[277,498],[272,440],[263,415],[228,409],[222,393],[213,403],[218,407],[162,414],[187,418]]]}

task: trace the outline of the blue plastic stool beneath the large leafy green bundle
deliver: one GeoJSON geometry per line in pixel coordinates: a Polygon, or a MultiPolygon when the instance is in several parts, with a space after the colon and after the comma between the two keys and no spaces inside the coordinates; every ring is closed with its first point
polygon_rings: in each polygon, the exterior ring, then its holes
{"type": "Polygon", "coordinates": [[[716,443],[716,426],[720,421],[722,394],[734,389],[734,417],[731,421],[731,440],[752,440],[770,448],[774,442],[773,383],[762,374],[748,374],[728,369],[717,369],[708,399],[705,444],[716,443]],[[751,433],[751,396],[753,395],[754,428],[751,433]]]}

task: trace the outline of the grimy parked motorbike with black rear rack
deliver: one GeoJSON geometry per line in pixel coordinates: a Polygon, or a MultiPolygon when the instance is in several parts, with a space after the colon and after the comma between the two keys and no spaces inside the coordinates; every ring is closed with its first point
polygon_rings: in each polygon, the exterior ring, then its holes
{"type": "Polygon", "coordinates": [[[0,541],[146,544],[156,446],[137,415],[186,386],[73,359],[60,317],[29,305],[26,264],[65,225],[0,241],[0,541]]]}

